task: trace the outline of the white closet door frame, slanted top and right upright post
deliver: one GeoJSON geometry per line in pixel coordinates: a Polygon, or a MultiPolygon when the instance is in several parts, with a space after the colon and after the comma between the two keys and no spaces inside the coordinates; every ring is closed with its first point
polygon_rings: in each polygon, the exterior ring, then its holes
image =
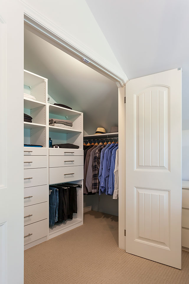
{"type": "MultiPolygon", "coordinates": [[[[113,82],[116,83],[118,87],[118,125],[119,125],[119,149],[121,153],[125,153],[125,137],[126,137],[126,128],[125,128],[125,104],[124,104],[124,97],[125,95],[125,85],[128,82],[128,78],[122,75],[118,75],[115,72],[109,70],[101,63],[93,59],[87,54],[87,49],[81,50],[76,47],[75,43],[70,43],[70,38],[65,33],[64,35],[58,33],[57,31],[52,29],[52,23],[45,20],[42,22],[42,18],[36,18],[36,15],[32,15],[32,9],[28,10],[28,7],[25,7],[24,13],[24,21],[25,25],[28,30],[32,33],[35,33],[40,38],[43,38],[45,41],[48,41],[52,45],[56,46],[57,48],[61,49],[62,51],[66,52],[67,54],[71,55],[72,57],[76,58],[83,64],[88,65],[93,70],[99,72],[100,74],[104,75],[105,77],[109,78],[113,82]],[[51,26],[51,28],[49,28],[51,26]],[[89,63],[84,62],[83,59],[87,59],[89,63]],[[125,77],[125,78],[123,78],[125,77]]],[[[44,19],[43,19],[44,20],[44,19]]],[[[119,184],[121,188],[126,190],[126,183],[125,183],[125,168],[126,168],[126,155],[119,156],[119,165],[121,171],[119,171],[119,184]]],[[[125,190],[119,191],[120,198],[118,200],[119,206],[119,248],[126,249],[126,241],[125,241],[125,229],[126,229],[126,210],[125,210],[125,190]]]]}

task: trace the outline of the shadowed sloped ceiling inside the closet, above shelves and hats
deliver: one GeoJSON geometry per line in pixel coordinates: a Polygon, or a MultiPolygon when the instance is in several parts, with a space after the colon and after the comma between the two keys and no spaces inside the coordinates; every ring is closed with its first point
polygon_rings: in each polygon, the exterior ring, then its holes
{"type": "Polygon", "coordinates": [[[24,68],[48,78],[48,94],[56,101],[84,112],[84,130],[109,132],[118,126],[118,88],[114,82],[75,58],[24,31],[24,68]]]}

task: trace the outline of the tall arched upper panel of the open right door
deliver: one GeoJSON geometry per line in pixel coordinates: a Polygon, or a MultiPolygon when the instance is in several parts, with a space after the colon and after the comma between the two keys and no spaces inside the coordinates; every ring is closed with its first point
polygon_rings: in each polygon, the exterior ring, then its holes
{"type": "Polygon", "coordinates": [[[170,171],[170,88],[135,94],[135,170],[170,171]]]}

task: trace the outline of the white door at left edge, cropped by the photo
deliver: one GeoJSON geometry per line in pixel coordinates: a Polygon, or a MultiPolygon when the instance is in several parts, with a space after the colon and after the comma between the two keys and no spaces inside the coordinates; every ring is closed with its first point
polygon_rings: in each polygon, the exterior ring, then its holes
{"type": "Polygon", "coordinates": [[[19,1],[0,1],[1,284],[24,283],[23,23],[19,1]]]}

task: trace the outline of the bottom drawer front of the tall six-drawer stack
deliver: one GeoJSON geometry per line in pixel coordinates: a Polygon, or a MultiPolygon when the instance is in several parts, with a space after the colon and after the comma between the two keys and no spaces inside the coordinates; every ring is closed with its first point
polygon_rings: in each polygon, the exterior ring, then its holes
{"type": "Polygon", "coordinates": [[[48,220],[39,221],[27,226],[24,226],[24,244],[31,243],[48,234],[48,220]],[[31,235],[32,234],[32,235],[31,235]]]}

